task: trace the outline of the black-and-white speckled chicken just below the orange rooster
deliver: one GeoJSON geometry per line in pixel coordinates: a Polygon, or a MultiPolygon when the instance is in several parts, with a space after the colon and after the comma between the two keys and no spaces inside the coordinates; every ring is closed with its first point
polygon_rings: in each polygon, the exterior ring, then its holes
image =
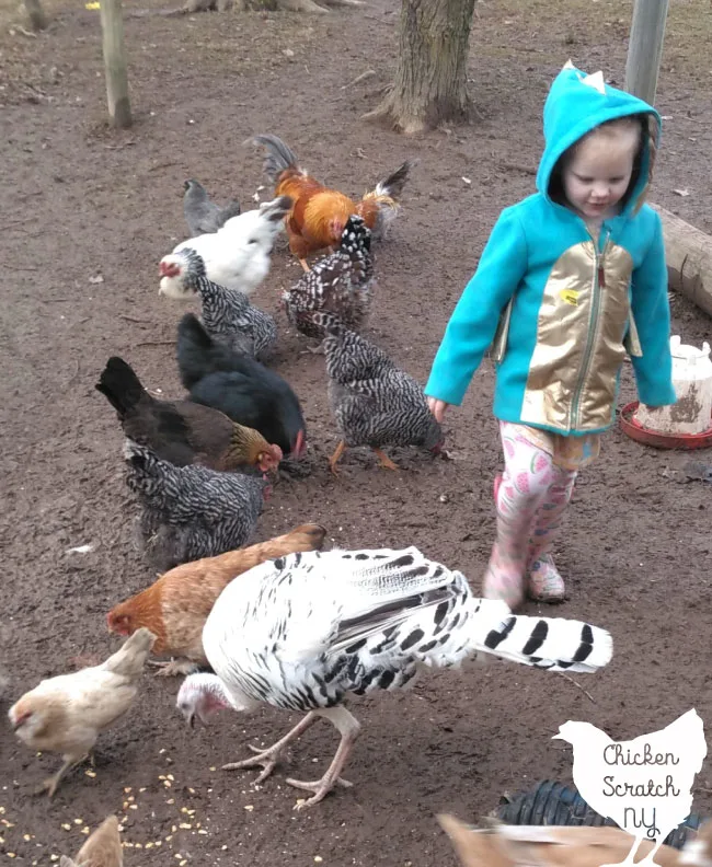
{"type": "Polygon", "coordinates": [[[360,217],[349,217],[338,250],[315,263],[283,294],[287,319],[297,331],[323,338],[325,331],[313,315],[317,311],[331,313],[346,328],[361,327],[374,281],[370,235],[360,217]]]}

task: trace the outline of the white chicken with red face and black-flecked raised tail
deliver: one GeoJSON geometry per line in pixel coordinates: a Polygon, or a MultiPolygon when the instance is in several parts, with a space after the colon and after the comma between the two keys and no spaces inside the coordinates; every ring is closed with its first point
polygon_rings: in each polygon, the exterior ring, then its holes
{"type": "MultiPolygon", "coordinates": [[[[279,196],[231,217],[217,232],[182,241],[173,253],[185,247],[194,250],[205,262],[209,280],[249,296],[269,271],[269,254],[290,208],[289,196],[279,196]]],[[[159,270],[159,294],[179,300],[194,294],[183,285],[180,268],[170,256],[161,259],[159,270]]]]}

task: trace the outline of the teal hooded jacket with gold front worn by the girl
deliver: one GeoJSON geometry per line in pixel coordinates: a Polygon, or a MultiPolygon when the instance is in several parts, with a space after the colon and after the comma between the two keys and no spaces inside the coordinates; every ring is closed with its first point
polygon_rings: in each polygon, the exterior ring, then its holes
{"type": "Polygon", "coordinates": [[[640,400],[675,403],[662,224],[641,207],[648,137],[634,186],[597,241],[550,196],[562,154],[594,127],[628,115],[652,116],[659,132],[655,109],[605,84],[601,73],[569,65],[559,73],[544,105],[538,193],[501,213],[448,323],[427,395],[459,405],[494,340],[494,415],[502,420],[564,436],[606,430],[625,351],[640,400]]]}

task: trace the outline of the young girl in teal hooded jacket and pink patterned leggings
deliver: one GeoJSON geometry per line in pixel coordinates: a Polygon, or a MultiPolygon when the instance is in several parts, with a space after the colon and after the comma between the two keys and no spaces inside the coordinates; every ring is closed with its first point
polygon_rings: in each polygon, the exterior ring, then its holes
{"type": "Polygon", "coordinates": [[[485,597],[556,602],[552,543],[578,471],[615,421],[625,351],[648,406],[675,403],[661,220],[644,205],[654,108],[571,62],[544,105],[536,195],[506,208],[448,323],[425,389],[462,402],[491,349],[505,469],[485,597]]]}

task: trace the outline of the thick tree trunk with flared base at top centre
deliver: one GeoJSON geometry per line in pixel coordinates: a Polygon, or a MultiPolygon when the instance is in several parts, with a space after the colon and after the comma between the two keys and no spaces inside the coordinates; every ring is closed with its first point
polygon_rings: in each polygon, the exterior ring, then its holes
{"type": "Polygon", "coordinates": [[[434,129],[469,117],[470,27],[475,0],[402,0],[395,81],[365,115],[402,132],[434,129]]]}

